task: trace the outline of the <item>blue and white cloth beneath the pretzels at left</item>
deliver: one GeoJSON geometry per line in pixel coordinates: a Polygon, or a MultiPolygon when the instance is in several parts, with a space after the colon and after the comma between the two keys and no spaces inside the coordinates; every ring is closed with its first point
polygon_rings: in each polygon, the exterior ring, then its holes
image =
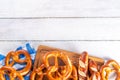
{"type": "MultiPolygon", "coordinates": [[[[36,54],[36,50],[34,48],[31,47],[31,45],[29,43],[26,43],[25,46],[19,46],[17,50],[21,50],[21,49],[24,49],[24,50],[27,50],[28,53],[30,54],[31,58],[32,58],[32,63],[34,63],[34,60],[35,60],[35,54],[36,54]]],[[[20,58],[25,58],[24,55],[20,55],[20,58]]],[[[0,53],[0,66],[4,66],[5,62],[5,55],[3,55],[2,53],[0,53]]],[[[26,64],[15,64],[13,67],[15,69],[22,69],[26,64]]],[[[29,77],[30,77],[30,73],[27,74],[26,76],[24,76],[24,79],[25,80],[29,80],[29,77]]],[[[9,80],[9,77],[6,76],[6,80],[9,80]]]]}

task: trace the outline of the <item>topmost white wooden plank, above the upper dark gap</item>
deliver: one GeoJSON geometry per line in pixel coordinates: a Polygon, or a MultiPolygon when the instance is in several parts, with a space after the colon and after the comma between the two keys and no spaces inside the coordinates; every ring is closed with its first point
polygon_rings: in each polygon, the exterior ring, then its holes
{"type": "Polygon", "coordinates": [[[120,0],[0,0],[0,17],[120,17],[120,0]]]}

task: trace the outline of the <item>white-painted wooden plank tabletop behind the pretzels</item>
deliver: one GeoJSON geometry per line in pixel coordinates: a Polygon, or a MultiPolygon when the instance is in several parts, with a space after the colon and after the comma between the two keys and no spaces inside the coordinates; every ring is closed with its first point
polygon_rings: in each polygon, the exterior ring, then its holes
{"type": "Polygon", "coordinates": [[[0,52],[19,45],[87,51],[120,62],[119,0],[0,0],[0,52]]]}

